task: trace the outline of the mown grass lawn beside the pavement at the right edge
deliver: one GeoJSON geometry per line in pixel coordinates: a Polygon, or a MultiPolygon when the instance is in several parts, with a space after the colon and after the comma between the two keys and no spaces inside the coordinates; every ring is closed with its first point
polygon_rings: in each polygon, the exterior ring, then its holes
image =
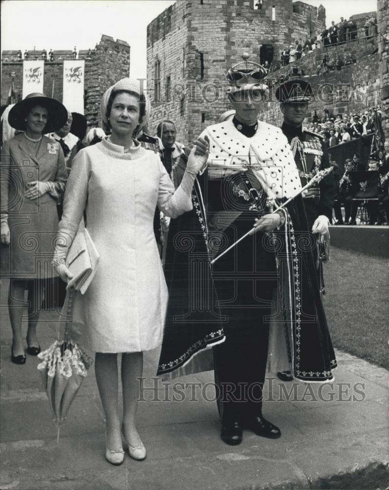
{"type": "Polygon", "coordinates": [[[324,265],[324,308],[332,342],[389,369],[388,261],[331,247],[324,265]]]}

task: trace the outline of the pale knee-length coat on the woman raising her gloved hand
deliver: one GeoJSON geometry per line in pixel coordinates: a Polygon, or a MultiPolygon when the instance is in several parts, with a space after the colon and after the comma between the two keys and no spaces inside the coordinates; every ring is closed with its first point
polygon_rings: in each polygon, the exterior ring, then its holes
{"type": "Polygon", "coordinates": [[[85,210],[100,258],[86,293],[73,294],[68,322],[73,341],[107,353],[140,352],[162,343],[168,291],[154,211],[158,205],[171,218],[190,211],[193,178],[186,172],[175,190],[159,156],[139,143],[124,153],[103,139],[77,153],[59,226],[74,235],[85,210]]]}

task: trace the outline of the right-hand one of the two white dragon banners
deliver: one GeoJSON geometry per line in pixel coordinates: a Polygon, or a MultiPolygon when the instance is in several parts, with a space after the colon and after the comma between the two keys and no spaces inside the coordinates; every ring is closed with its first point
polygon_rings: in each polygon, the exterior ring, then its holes
{"type": "Polygon", "coordinates": [[[84,114],[84,60],[64,60],[62,103],[70,112],[84,114]]]}

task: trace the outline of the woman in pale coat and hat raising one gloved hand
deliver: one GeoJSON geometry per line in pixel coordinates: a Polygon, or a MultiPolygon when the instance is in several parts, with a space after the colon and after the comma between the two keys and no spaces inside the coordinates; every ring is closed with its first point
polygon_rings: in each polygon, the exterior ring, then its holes
{"type": "MultiPolygon", "coordinates": [[[[73,160],[59,223],[59,237],[66,245],[57,245],[53,261],[64,280],[71,278],[64,259],[85,211],[100,259],[86,293],[75,292],[71,335],[96,352],[96,379],[106,418],[106,459],[116,465],[124,459],[122,433],[129,455],[136,460],[146,457],[135,425],[137,378],[142,376],[143,351],[162,343],[168,299],[153,231],[155,207],[171,218],[190,211],[195,175],[208,155],[192,150],[175,190],[159,156],[132,139],[149,112],[149,101],[137,80],[123,78],[103,95],[101,114],[111,135],[81,150],[73,160]],[[122,353],[122,427],[118,353],[122,353]]],[[[196,144],[208,145],[203,140],[196,144]]]]}

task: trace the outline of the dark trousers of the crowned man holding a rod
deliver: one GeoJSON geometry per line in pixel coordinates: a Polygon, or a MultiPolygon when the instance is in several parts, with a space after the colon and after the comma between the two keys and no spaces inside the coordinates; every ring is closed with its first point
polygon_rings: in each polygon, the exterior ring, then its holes
{"type": "MultiPolygon", "coordinates": [[[[252,218],[249,225],[252,226],[252,218]]],[[[237,236],[242,236],[244,230],[237,236]]],[[[228,237],[228,231],[226,235],[228,237]]],[[[266,238],[266,237],[265,237],[266,238]]],[[[243,240],[215,265],[225,278],[215,286],[226,340],[214,347],[219,413],[223,420],[256,417],[262,411],[267,365],[271,299],[277,287],[274,251],[263,246],[264,234],[243,240]],[[224,259],[224,260],[223,260],[224,259]],[[234,268],[231,273],[228,270],[234,268]]]]}

